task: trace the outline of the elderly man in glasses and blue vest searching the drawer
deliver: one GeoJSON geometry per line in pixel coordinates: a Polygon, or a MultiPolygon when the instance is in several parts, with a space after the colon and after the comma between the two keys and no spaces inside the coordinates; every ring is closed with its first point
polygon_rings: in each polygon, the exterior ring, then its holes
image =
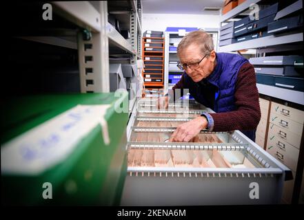
{"type": "MultiPolygon", "coordinates": [[[[171,142],[189,142],[199,131],[241,130],[255,140],[256,126],[261,119],[259,92],[254,67],[239,54],[214,52],[210,34],[201,30],[190,32],[177,47],[178,67],[184,71],[172,88],[189,89],[197,102],[216,113],[185,122],[172,134],[171,142]]],[[[163,96],[158,107],[168,107],[173,97],[163,96]]]]}

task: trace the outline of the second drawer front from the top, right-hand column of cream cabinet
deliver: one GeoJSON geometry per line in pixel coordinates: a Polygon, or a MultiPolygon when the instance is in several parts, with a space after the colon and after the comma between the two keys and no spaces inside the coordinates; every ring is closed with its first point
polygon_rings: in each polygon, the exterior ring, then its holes
{"type": "Polygon", "coordinates": [[[290,120],[283,115],[271,112],[269,121],[278,127],[291,131],[296,135],[302,135],[303,124],[290,120]]]}

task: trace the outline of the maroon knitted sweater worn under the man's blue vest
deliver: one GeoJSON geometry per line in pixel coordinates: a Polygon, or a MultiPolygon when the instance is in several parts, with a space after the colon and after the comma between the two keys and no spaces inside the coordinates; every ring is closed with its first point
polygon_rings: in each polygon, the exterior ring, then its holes
{"type": "MultiPolygon", "coordinates": [[[[172,89],[183,89],[183,76],[172,89]]],[[[212,97],[213,94],[212,94],[212,97]]],[[[256,129],[261,119],[259,91],[256,88],[254,67],[245,63],[239,70],[234,91],[236,110],[210,113],[214,120],[213,131],[249,131],[256,129]]]]}

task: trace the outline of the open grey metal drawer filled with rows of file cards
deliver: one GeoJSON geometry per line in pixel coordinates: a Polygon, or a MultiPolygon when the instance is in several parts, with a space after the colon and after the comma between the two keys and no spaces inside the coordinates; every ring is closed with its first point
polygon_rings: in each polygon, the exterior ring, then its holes
{"type": "MultiPolygon", "coordinates": [[[[176,123],[192,118],[171,119],[151,113],[152,120],[148,122],[160,124],[168,119],[176,123]]],[[[291,170],[240,131],[201,131],[195,142],[165,142],[176,128],[138,126],[138,119],[143,118],[149,116],[136,116],[132,121],[136,126],[132,126],[129,135],[122,206],[281,202],[283,183],[292,179],[291,170]],[[153,159],[147,160],[147,155],[153,159]],[[181,159],[180,155],[187,156],[181,159]]]]}

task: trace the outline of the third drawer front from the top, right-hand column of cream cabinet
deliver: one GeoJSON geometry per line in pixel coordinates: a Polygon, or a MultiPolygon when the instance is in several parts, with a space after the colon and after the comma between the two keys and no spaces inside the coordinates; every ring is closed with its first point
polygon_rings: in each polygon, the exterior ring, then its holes
{"type": "Polygon", "coordinates": [[[296,135],[290,131],[287,131],[286,129],[283,129],[279,126],[276,126],[276,124],[270,123],[269,125],[269,131],[276,135],[278,139],[283,140],[287,142],[288,144],[292,144],[292,146],[296,148],[300,148],[301,144],[301,135],[296,135]]]}

